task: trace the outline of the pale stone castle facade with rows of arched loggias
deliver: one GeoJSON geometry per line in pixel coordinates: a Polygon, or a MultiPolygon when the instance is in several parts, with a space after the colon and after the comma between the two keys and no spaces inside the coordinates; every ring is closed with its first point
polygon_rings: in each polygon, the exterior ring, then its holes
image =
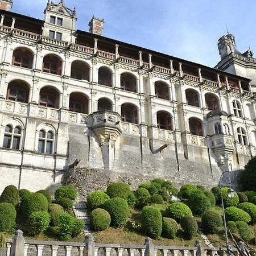
{"type": "Polygon", "coordinates": [[[227,68],[232,41],[220,39],[213,69],[105,38],[94,16],[90,32],[76,30],[63,1],[44,20],[12,4],[0,1],[0,191],[71,172],[91,189],[153,177],[213,185],[255,155],[256,79],[227,68]]]}

